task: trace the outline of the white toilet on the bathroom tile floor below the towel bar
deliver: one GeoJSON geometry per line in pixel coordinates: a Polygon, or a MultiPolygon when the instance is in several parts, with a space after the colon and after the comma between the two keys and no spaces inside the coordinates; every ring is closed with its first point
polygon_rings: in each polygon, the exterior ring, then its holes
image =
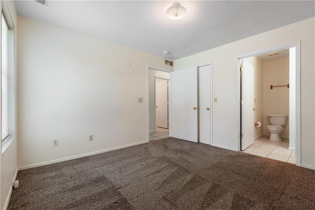
{"type": "Polygon", "coordinates": [[[286,123],[285,114],[268,114],[271,125],[267,125],[267,129],[270,132],[270,139],[274,141],[280,141],[279,134],[284,128],[282,126],[286,123]]]}

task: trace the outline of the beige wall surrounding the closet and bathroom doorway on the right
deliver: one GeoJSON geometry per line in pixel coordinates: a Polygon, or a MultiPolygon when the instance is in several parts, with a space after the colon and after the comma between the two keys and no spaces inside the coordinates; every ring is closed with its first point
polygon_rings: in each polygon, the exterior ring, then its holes
{"type": "Polygon", "coordinates": [[[315,18],[254,35],[175,61],[175,70],[213,62],[213,141],[238,150],[237,57],[301,40],[301,163],[315,169],[315,18]]]}

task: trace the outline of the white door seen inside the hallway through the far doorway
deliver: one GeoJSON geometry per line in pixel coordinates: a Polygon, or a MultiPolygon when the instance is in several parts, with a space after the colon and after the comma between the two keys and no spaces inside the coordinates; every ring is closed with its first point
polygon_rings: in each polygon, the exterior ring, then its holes
{"type": "Polygon", "coordinates": [[[156,78],[156,126],[168,129],[168,80],[156,78]]]}

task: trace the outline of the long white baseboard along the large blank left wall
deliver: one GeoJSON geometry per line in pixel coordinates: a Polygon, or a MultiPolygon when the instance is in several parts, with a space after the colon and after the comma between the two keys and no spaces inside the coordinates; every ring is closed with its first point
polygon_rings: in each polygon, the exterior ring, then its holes
{"type": "Polygon", "coordinates": [[[135,146],[135,145],[139,145],[139,144],[143,144],[143,143],[148,143],[148,141],[141,141],[141,142],[137,142],[137,143],[127,144],[127,145],[124,145],[124,146],[118,146],[118,147],[114,147],[114,148],[110,148],[110,149],[99,150],[99,151],[96,151],[96,152],[85,153],[85,154],[82,154],[82,155],[75,155],[75,156],[61,158],[61,159],[57,159],[57,160],[51,160],[51,161],[47,161],[47,162],[36,163],[36,164],[28,165],[28,166],[22,166],[22,167],[19,167],[18,170],[21,171],[21,170],[24,170],[24,169],[30,169],[30,168],[34,168],[34,167],[45,166],[45,165],[49,165],[49,164],[53,164],[53,163],[60,163],[60,162],[66,161],[66,160],[73,160],[73,159],[77,159],[77,158],[80,158],[80,157],[96,155],[96,154],[99,154],[99,153],[109,152],[109,151],[122,149],[122,148],[126,148],[126,147],[129,147],[129,146],[135,146]]]}

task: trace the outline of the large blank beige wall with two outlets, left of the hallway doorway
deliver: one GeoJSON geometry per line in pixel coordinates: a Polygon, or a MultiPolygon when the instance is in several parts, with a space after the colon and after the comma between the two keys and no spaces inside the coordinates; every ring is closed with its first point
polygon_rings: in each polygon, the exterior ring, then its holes
{"type": "Polygon", "coordinates": [[[167,69],[163,58],[21,16],[18,24],[20,169],[147,142],[147,65],[167,69]]]}

